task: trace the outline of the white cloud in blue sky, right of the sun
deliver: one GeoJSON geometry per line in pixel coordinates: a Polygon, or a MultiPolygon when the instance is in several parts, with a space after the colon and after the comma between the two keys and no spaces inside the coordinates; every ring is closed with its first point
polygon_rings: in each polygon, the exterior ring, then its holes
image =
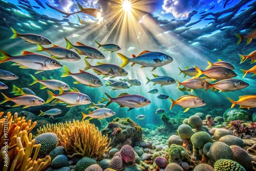
{"type": "Polygon", "coordinates": [[[163,10],[175,18],[188,17],[188,14],[204,4],[204,0],[164,0],[163,10]]]}

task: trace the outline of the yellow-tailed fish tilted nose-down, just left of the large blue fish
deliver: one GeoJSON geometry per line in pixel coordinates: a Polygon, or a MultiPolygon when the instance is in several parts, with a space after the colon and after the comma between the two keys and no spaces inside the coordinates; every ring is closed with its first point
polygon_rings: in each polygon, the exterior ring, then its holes
{"type": "Polygon", "coordinates": [[[67,49],[75,49],[79,55],[86,55],[87,58],[90,59],[104,59],[105,56],[98,51],[97,49],[90,47],[90,46],[86,46],[84,44],[82,44],[81,42],[76,42],[76,45],[72,45],[71,42],[64,37],[66,42],[67,42],[67,49]]]}

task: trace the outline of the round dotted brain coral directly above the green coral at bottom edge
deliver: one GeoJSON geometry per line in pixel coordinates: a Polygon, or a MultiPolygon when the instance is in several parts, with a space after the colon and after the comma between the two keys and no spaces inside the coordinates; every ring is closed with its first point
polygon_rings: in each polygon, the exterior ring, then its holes
{"type": "Polygon", "coordinates": [[[209,158],[217,161],[219,159],[234,159],[231,148],[224,142],[214,142],[210,146],[209,158]]]}

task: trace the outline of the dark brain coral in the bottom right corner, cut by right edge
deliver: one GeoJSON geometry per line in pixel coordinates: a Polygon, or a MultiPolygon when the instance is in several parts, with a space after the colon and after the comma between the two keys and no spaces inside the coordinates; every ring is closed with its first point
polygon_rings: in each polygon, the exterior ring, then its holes
{"type": "Polygon", "coordinates": [[[253,170],[251,161],[255,160],[243,148],[237,145],[232,145],[230,148],[234,154],[234,161],[244,166],[246,170],[253,170]]]}

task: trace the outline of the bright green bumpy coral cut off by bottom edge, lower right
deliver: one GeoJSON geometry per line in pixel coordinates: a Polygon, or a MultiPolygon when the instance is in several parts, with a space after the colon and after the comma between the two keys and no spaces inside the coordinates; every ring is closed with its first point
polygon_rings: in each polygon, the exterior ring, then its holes
{"type": "Polygon", "coordinates": [[[239,163],[228,159],[220,159],[216,161],[214,169],[216,171],[246,171],[246,169],[239,163]]]}

